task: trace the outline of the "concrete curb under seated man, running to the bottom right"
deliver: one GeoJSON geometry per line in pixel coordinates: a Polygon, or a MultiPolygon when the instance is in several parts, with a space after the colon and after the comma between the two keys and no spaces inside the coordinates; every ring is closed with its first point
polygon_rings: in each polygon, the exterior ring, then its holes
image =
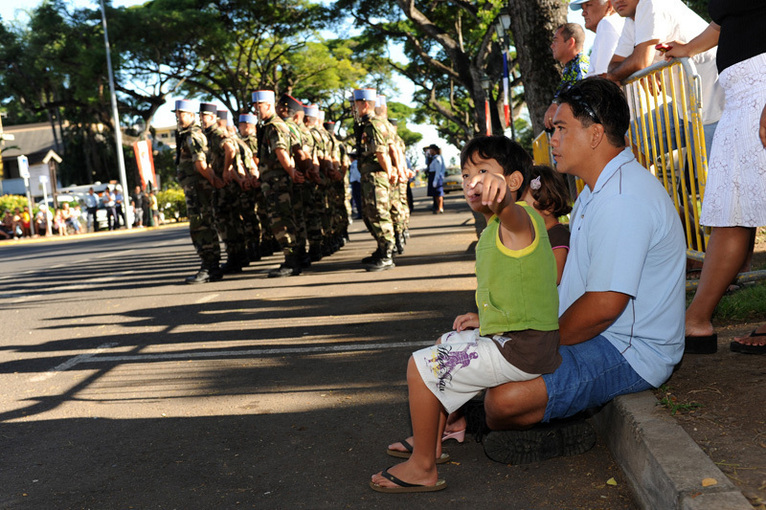
{"type": "Polygon", "coordinates": [[[646,509],[752,510],[734,484],[645,391],[615,398],[593,425],[646,509]],[[715,485],[702,486],[712,478],[715,485]]]}

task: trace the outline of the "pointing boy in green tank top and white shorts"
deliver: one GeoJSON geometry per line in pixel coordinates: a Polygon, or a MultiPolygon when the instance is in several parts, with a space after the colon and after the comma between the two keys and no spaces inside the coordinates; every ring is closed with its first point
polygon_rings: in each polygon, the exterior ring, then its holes
{"type": "Polygon", "coordinates": [[[446,488],[436,464],[449,460],[441,452],[447,415],[483,389],[534,379],[561,363],[553,251],[543,219],[517,202],[531,166],[524,149],[504,136],[478,137],[463,149],[463,193],[487,218],[476,247],[478,313],[458,316],[454,331],[410,358],[413,437],[388,449],[408,460],[372,476],[378,492],[446,488]]]}

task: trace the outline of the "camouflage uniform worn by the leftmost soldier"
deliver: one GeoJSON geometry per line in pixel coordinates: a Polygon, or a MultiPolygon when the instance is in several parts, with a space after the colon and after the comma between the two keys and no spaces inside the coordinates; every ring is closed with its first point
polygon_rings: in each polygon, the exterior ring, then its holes
{"type": "Polygon", "coordinates": [[[221,247],[213,212],[215,188],[195,168],[198,161],[207,161],[207,140],[197,125],[179,129],[176,138],[176,177],[186,197],[189,234],[202,269],[218,270],[221,247]]]}

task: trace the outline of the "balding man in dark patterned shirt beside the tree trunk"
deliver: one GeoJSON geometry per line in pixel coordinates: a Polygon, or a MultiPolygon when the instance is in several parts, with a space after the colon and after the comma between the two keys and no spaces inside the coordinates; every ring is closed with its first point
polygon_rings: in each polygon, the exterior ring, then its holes
{"type": "Polygon", "coordinates": [[[577,23],[564,23],[553,35],[551,52],[553,58],[564,66],[564,70],[561,72],[561,83],[553,95],[553,101],[543,117],[546,129],[553,129],[553,116],[558,108],[556,98],[561,91],[585,78],[588,72],[588,57],[582,53],[584,43],[585,30],[577,23]]]}

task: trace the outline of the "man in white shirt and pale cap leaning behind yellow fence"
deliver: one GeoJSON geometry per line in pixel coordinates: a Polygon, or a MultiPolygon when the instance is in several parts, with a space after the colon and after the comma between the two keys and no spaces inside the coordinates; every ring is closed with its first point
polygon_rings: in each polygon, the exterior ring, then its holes
{"type": "Polygon", "coordinates": [[[572,0],[569,8],[573,11],[582,9],[585,28],[596,34],[586,77],[605,74],[620,40],[625,18],[617,14],[609,0],[572,0]]]}

